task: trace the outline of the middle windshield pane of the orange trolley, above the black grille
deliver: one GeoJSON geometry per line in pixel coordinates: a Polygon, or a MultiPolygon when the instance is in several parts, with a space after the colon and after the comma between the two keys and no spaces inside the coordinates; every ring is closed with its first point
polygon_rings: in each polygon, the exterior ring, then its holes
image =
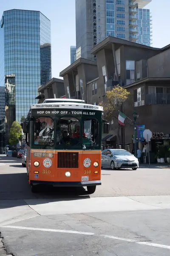
{"type": "Polygon", "coordinates": [[[56,142],[57,145],[80,144],[80,122],[75,117],[62,117],[57,122],[56,142]]]}

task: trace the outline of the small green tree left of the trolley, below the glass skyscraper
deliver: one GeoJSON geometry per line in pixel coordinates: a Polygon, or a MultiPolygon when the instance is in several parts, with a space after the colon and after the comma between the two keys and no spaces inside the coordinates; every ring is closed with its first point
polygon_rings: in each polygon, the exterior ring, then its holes
{"type": "Polygon", "coordinates": [[[21,135],[22,135],[22,127],[18,121],[14,121],[10,129],[9,144],[12,146],[17,145],[19,140],[21,140],[21,135]]]}

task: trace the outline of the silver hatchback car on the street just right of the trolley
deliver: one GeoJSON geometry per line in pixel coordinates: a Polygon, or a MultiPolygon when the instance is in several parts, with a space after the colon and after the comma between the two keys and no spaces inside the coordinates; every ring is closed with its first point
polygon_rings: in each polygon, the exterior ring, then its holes
{"type": "Polygon", "coordinates": [[[139,167],[139,161],[125,149],[105,149],[102,151],[103,167],[111,168],[112,170],[121,168],[132,168],[136,170],[139,167]]]}

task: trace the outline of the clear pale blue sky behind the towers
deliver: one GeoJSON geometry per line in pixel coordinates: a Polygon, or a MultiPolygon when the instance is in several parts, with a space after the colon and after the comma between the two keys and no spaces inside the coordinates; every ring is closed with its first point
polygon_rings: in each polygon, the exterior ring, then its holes
{"type": "MultiPolygon", "coordinates": [[[[51,20],[52,77],[70,65],[70,46],[76,44],[75,0],[1,0],[0,15],[9,9],[42,12],[51,20]]],[[[152,0],[153,47],[170,44],[170,0],[152,0]]]]}

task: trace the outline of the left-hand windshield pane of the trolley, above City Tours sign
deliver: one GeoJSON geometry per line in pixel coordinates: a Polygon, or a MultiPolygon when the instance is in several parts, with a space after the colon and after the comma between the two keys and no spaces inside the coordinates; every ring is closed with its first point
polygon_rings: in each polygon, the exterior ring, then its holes
{"type": "Polygon", "coordinates": [[[54,121],[51,117],[40,117],[34,122],[34,145],[54,147],[54,121]]]}

